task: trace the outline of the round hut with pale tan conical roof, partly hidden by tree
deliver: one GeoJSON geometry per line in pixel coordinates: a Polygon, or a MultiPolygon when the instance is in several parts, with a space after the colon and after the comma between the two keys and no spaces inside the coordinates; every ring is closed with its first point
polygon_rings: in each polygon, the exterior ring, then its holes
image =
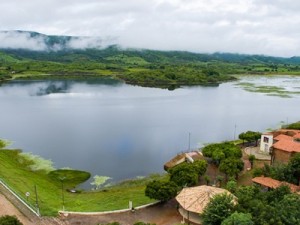
{"type": "MultiPolygon", "coordinates": [[[[186,187],[176,196],[176,200],[179,203],[179,213],[182,215],[183,220],[193,222],[195,224],[201,224],[201,214],[204,208],[211,201],[211,199],[217,194],[232,195],[229,191],[201,185],[196,187],[186,187]]],[[[237,203],[234,195],[234,203],[237,203]]]]}

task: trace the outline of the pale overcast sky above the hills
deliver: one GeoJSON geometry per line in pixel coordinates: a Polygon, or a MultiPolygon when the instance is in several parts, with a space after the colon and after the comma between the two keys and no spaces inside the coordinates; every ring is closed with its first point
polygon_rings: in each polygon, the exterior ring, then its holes
{"type": "Polygon", "coordinates": [[[0,0],[0,30],[124,47],[300,55],[299,0],[0,0]]]}

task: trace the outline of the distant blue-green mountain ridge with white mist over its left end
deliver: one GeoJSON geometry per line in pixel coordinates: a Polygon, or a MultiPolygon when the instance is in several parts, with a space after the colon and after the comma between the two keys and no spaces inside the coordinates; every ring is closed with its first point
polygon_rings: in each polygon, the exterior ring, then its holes
{"type": "Polygon", "coordinates": [[[126,49],[118,46],[114,38],[56,36],[20,30],[0,31],[0,51],[17,59],[55,62],[103,61],[108,57],[126,56],[139,57],[149,63],[221,61],[240,64],[300,64],[300,57],[126,49]]]}

